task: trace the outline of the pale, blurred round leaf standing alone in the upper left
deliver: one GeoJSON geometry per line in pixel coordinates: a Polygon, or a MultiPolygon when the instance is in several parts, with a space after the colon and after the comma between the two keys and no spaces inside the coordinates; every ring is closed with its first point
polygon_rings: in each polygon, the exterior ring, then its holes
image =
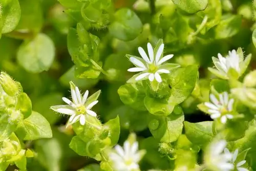
{"type": "Polygon", "coordinates": [[[25,70],[39,73],[50,69],[55,56],[54,44],[46,34],[38,34],[19,47],[17,60],[25,70]]]}

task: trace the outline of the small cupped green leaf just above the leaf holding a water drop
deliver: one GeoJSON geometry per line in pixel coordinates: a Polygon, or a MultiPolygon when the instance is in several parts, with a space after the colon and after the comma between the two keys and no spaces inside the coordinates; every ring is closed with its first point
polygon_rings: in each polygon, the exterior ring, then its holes
{"type": "Polygon", "coordinates": [[[169,115],[173,112],[175,105],[166,99],[156,99],[146,96],[144,104],[148,112],[154,115],[169,115]]]}

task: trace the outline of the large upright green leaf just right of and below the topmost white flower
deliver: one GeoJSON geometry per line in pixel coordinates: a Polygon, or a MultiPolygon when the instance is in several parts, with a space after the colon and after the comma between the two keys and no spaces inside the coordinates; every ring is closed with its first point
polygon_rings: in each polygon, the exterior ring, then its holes
{"type": "Polygon", "coordinates": [[[169,85],[172,88],[169,103],[177,105],[193,92],[198,79],[198,66],[179,68],[170,73],[169,85]]]}

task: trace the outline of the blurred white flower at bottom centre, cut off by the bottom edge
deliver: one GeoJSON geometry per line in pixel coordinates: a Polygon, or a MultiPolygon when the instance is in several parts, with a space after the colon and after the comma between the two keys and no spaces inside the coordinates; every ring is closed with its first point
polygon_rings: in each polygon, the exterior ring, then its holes
{"type": "Polygon", "coordinates": [[[131,144],[126,140],[123,144],[124,148],[120,145],[115,146],[115,152],[110,153],[110,159],[113,161],[115,170],[117,171],[130,171],[138,170],[138,162],[143,157],[144,153],[138,151],[138,142],[135,141],[131,144]]]}

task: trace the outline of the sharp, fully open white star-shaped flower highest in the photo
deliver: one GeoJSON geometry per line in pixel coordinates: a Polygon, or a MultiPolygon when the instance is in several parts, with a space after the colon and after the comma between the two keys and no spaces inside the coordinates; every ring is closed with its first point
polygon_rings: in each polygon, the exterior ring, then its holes
{"type": "Polygon", "coordinates": [[[138,57],[130,57],[130,61],[136,66],[135,68],[130,68],[128,71],[130,72],[141,72],[135,80],[141,80],[148,78],[150,81],[153,81],[154,79],[157,80],[157,82],[162,82],[162,78],[160,74],[162,73],[170,73],[167,69],[164,69],[164,65],[162,65],[163,62],[169,60],[174,55],[166,55],[161,58],[162,53],[164,49],[164,44],[161,44],[160,47],[157,50],[156,56],[154,56],[154,50],[152,48],[152,45],[148,42],[147,43],[147,51],[148,56],[146,52],[139,47],[139,53],[141,55],[141,58],[138,57]]]}

